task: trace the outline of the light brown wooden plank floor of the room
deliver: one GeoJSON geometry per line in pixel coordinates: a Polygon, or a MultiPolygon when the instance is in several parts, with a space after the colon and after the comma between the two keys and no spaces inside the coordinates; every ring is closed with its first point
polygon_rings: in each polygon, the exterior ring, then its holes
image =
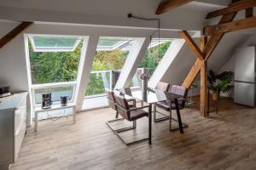
{"type": "MultiPolygon", "coordinates": [[[[38,133],[28,129],[11,170],[256,169],[256,109],[230,99],[221,99],[218,116],[183,110],[183,122],[189,124],[184,134],[169,133],[167,121],[153,123],[152,145],[123,144],[105,124],[113,117],[111,109],[101,109],[78,114],[76,124],[72,117],[39,122],[38,133]]],[[[145,118],[124,136],[147,134],[145,118]]]]}

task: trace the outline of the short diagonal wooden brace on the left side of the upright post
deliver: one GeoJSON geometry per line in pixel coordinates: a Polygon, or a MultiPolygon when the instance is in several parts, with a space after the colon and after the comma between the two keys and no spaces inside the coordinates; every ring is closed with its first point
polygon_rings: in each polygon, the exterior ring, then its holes
{"type": "Polygon", "coordinates": [[[189,36],[189,33],[187,31],[180,31],[180,35],[185,39],[185,41],[189,45],[189,48],[192,49],[192,51],[198,56],[198,58],[204,60],[204,54],[201,52],[201,49],[197,46],[192,37],[189,36]]]}

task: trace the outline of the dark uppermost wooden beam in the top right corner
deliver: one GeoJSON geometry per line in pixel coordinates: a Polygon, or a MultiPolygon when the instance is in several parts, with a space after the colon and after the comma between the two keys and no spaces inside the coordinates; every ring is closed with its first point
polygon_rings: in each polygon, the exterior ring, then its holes
{"type": "Polygon", "coordinates": [[[256,1],[255,0],[242,0],[236,3],[231,3],[229,7],[227,8],[222,8],[216,11],[213,11],[209,14],[207,14],[206,19],[211,19],[217,16],[221,16],[224,14],[230,14],[233,12],[237,12],[242,9],[247,9],[247,8],[253,8],[256,7],[256,1]]]}

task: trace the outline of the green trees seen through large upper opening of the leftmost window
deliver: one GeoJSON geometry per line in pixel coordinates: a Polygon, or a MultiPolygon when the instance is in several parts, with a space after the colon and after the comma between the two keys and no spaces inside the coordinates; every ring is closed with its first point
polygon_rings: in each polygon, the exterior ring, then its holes
{"type": "Polygon", "coordinates": [[[29,42],[32,84],[76,81],[82,44],[73,52],[35,52],[29,42]]]}

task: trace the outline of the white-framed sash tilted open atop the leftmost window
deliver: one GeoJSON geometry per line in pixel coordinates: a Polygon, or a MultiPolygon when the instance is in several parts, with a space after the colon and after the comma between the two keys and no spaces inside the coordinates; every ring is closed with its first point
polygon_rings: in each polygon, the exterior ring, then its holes
{"type": "Polygon", "coordinates": [[[29,37],[34,52],[73,52],[81,41],[80,37],[29,37]]]}

